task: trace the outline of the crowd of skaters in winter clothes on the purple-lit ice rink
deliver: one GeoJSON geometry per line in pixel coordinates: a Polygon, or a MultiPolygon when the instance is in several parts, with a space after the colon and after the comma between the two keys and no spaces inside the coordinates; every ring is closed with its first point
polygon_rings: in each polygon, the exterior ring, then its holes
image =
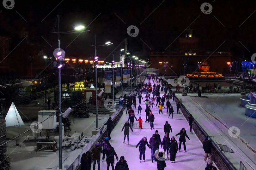
{"type": "MultiPolygon", "coordinates": [[[[169,90],[169,93],[168,93],[167,82],[165,80],[163,80],[162,78],[160,78],[159,81],[157,81],[158,80],[157,77],[155,77],[154,75],[148,75],[147,79],[149,81],[148,84],[147,83],[146,84],[140,83],[139,86],[137,87],[137,89],[135,89],[133,95],[132,94],[128,95],[128,96],[125,95],[124,97],[121,96],[119,98],[119,102],[121,101],[121,104],[126,104],[126,108],[127,108],[126,109],[126,114],[127,114],[127,111],[128,111],[128,114],[129,114],[128,121],[125,122],[125,124],[124,124],[124,126],[121,130],[121,132],[124,131],[124,141],[123,141],[123,143],[125,143],[125,139],[126,139],[126,136],[127,136],[127,143],[129,144],[129,134],[130,134],[130,130],[133,131],[133,126],[134,126],[134,121],[135,120],[138,121],[139,128],[143,129],[142,128],[143,120],[142,120],[141,116],[139,116],[139,118],[137,119],[136,116],[135,116],[135,112],[132,109],[132,104],[133,104],[133,108],[135,108],[135,110],[136,110],[136,97],[139,99],[139,104],[141,104],[141,99],[143,99],[142,95],[145,98],[145,100],[144,100],[145,105],[146,105],[146,109],[145,109],[146,119],[145,119],[145,122],[148,121],[150,123],[150,129],[151,130],[152,130],[152,128],[155,129],[154,128],[155,116],[151,111],[153,105],[155,105],[155,100],[153,99],[154,94],[155,94],[156,102],[157,102],[155,107],[157,107],[157,106],[159,107],[159,114],[162,113],[162,107],[164,107],[165,100],[162,99],[162,98],[164,98],[164,99],[167,100],[167,103],[166,103],[167,113],[168,113],[168,110],[169,110],[169,116],[168,117],[170,117],[170,114],[172,114],[172,118],[173,118],[174,110],[173,110],[173,106],[169,102],[169,99],[174,99],[175,93],[174,92],[170,93],[171,89],[169,90]],[[151,83],[150,83],[151,79],[154,82],[156,82],[157,85],[155,85],[155,83],[154,83],[154,85],[152,87],[151,83]],[[160,93],[158,93],[159,90],[162,88],[160,86],[160,84],[162,84],[162,87],[164,86],[163,90],[165,91],[165,93],[164,93],[165,96],[163,96],[162,98],[160,98],[160,93]],[[143,90],[143,89],[145,89],[145,90],[143,90]],[[153,90],[153,93],[154,92],[155,93],[154,94],[152,93],[153,97],[150,98],[150,93],[152,92],[152,90],[153,90]],[[157,105],[157,104],[159,104],[159,105],[157,105]],[[130,123],[129,123],[129,121],[130,121],[130,123]]],[[[163,91],[163,90],[161,89],[161,91],[163,91]]],[[[178,102],[176,104],[176,106],[177,106],[177,113],[180,113],[180,103],[178,102]]],[[[137,110],[138,110],[137,115],[138,114],[141,115],[142,107],[140,105],[138,106],[137,110]]],[[[192,115],[190,115],[189,116],[190,134],[193,134],[192,133],[192,123],[193,123],[193,117],[192,117],[192,115]]],[[[109,142],[109,139],[111,139],[110,134],[111,134],[111,131],[112,131],[112,127],[114,128],[112,118],[109,117],[109,119],[107,120],[107,122],[104,125],[107,125],[108,135],[102,143],[96,143],[95,147],[93,148],[93,153],[94,153],[93,154],[93,160],[94,160],[93,170],[95,170],[95,168],[96,168],[96,161],[97,161],[97,164],[98,164],[98,170],[100,170],[100,156],[101,156],[101,153],[103,153],[103,156],[102,156],[103,161],[105,160],[105,155],[107,156],[107,158],[106,158],[107,170],[109,170],[110,165],[112,167],[112,170],[126,170],[126,169],[128,170],[129,168],[128,168],[127,161],[125,161],[125,157],[121,156],[120,160],[119,160],[114,148],[111,146],[111,144],[109,142]],[[103,149],[101,148],[102,146],[103,146],[103,149]],[[119,160],[115,167],[113,166],[114,156],[116,157],[117,161],[119,160]]],[[[144,136],[138,142],[138,144],[135,146],[136,148],[139,146],[139,160],[140,160],[140,162],[142,161],[142,158],[143,158],[143,162],[145,162],[145,150],[146,150],[146,145],[147,145],[147,147],[151,150],[151,161],[152,161],[152,163],[154,161],[157,161],[157,169],[159,169],[159,170],[160,169],[163,170],[166,167],[165,158],[164,158],[165,153],[167,153],[167,159],[168,160],[169,160],[169,153],[170,153],[170,161],[172,163],[175,163],[176,162],[175,159],[176,159],[177,151],[181,150],[181,144],[183,143],[183,149],[186,152],[186,138],[190,140],[190,138],[188,137],[188,135],[186,133],[185,128],[183,127],[180,130],[180,132],[175,135],[176,137],[178,135],[180,135],[179,146],[178,146],[178,142],[175,139],[175,137],[174,136],[171,136],[171,138],[169,137],[169,133],[172,133],[172,128],[171,128],[171,125],[168,123],[168,121],[165,122],[165,124],[163,126],[163,131],[164,131],[165,135],[164,135],[162,140],[161,140],[160,134],[158,134],[159,133],[158,130],[155,130],[155,133],[152,135],[152,137],[150,137],[149,142],[148,142],[147,136],[144,136]],[[161,145],[161,148],[163,147],[164,152],[159,152],[160,145],[161,145]]],[[[212,162],[212,159],[211,159],[211,147],[213,147],[212,144],[211,144],[211,139],[208,138],[208,137],[205,137],[205,141],[203,142],[203,149],[205,151],[204,161],[207,162],[205,170],[208,170],[208,169],[209,170],[210,169],[211,170],[216,170],[216,167],[214,167],[212,165],[213,162],[212,162]],[[209,147],[210,147],[210,149],[209,149],[209,147]],[[208,161],[206,161],[207,158],[208,158],[208,161]]],[[[86,169],[86,170],[91,169],[90,160],[91,160],[90,152],[86,152],[86,154],[83,154],[83,156],[81,158],[81,165],[84,165],[84,167],[85,167],[84,169],[86,169]],[[84,160],[88,161],[88,166],[86,165],[84,160]]]]}

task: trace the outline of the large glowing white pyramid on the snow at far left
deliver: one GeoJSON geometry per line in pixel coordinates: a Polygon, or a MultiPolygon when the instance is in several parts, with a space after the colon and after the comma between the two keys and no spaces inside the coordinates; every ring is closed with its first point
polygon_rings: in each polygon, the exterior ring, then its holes
{"type": "Polygon", "coordinates": [[[21,119],[21,116],[16,109],[14,103],[12,102],[11,107],[8,110],[8,113],[5,117],[6,126],[19,126],[24,125],[24,122],[21,119]]]}

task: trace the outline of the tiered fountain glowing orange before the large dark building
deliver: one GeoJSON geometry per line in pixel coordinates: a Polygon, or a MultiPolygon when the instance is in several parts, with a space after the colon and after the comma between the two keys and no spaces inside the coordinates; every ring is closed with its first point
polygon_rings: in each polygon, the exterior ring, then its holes
{"type": "Polygon", "coordinates": [[[199,71],[195,71],[192,74],[187,74],[187,77],[223,77],[222,74],[216,74],[214,71],[209,71],[210,66],[207,62],[198,65],[199,71]]]}

